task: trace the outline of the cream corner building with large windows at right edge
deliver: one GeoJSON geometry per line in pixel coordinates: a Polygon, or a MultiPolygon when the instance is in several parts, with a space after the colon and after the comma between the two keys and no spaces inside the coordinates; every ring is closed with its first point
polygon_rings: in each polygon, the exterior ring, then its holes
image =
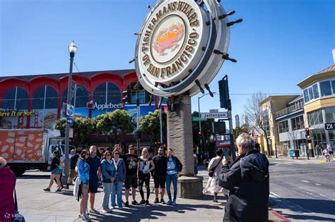
{"type": "Polygon", "coordinates": [[[319,73],[298,83],[304,96],[306,128],[310,129],[312,143],[310,153],[315,153],[315,146],[327,147],[335,143],[335,130],[327,130],[325,123],[335,123],[335,66],[330,66],[319,73]]]}

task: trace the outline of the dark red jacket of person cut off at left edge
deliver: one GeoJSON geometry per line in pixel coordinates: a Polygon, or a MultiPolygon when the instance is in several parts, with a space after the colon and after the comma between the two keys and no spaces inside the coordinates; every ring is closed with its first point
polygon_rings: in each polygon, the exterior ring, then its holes
{"type": "Polygon", "coordinates": [[[14,205],[14,187],[16,177],[8,166],[0,168],[0,222],[10,221],[13,218],[14,205]]]}

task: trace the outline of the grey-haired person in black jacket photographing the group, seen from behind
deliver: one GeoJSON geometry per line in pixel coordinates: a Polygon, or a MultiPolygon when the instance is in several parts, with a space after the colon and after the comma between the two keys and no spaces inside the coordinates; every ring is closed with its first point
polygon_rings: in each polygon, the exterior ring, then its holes
{"type": "Polygon", "coordinates": [[[254,149],[254,140],[242,133],[236,140],[240,156],[228,166],[223,158],[219,185],[229,190],[223,221],[268,221],[269,161],[254,149]]]}

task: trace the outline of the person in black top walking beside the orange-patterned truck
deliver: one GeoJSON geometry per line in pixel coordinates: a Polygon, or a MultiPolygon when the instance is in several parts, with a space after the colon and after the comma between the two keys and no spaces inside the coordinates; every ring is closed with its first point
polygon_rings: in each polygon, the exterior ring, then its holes
{"type": "Polygon", "coordinates": [[[61,192],[61,171],[63,170],[63,163],[59,159],[59,152],[58,150],[55,150],[52,154],[54,154],[54,157],[51,161],[51,175],[50,175],[50,182],[49,186],[44,191],[50,191],[50,188],[54,184],[54,179],[56,179],[56,183],[58,185],[58,189],[56,192],[61,192]]]}

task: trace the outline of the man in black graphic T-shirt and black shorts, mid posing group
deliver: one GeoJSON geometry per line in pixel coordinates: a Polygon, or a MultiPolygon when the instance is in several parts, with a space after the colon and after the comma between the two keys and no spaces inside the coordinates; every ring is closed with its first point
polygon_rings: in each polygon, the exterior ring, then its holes
{"type": "Polygon", "coordinates": [[[137,188],[137,169],[139,168],[139,156],[135,154],[135,148],[133,144],[130,144],[128,147],[128,154],[124,155],[124,164],[126,164],[127,173],[126,173],[126,180],[124,181],[124,187],[126,188],[125,194],[126,194],[126,202],[124,203],[124,206],[129,206],[129,190],[131,187],[131,195],[133,197],[133,201],[131,204],[133,205],[139,205],[138,202],[136,202],[136,188],[137,188]]]}

